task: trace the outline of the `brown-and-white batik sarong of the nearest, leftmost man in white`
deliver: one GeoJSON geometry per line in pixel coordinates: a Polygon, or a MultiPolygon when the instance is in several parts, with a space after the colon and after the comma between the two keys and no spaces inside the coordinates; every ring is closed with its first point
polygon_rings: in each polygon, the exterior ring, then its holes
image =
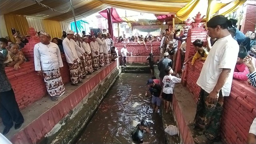
{"type": "Polygon", "coordinates": [[[50,96],[62,96],[62,94],[66,92],[59,68],[54,70],[43,70],[43,76],[47,92],[50,96]]]}

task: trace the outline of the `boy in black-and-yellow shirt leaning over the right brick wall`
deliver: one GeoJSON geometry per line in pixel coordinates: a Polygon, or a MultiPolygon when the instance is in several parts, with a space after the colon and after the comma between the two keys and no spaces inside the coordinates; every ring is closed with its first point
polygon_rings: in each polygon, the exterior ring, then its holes
{"type": "Polygon", "coordinates": [[[194,63],[198,58],[201,58],[201,60],[206,60],[206,57],[208,56],[209,52],[206,50],[206,48],[203,47],[204,41],[202,41],[201,39],[195,40],[192,44],[194,45],[194,48],[197,51],[191,62],[191,65],[194,66],[194,63]]]}

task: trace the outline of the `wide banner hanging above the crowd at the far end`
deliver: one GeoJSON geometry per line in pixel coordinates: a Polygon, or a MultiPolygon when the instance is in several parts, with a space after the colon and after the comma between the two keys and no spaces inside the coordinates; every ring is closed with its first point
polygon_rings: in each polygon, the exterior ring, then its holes
{"type": "Polygon", "coordinates": [[[151,26],[133,26],[132,35],[133,36],[146,36],[148,32],[153,36],[159,36],[161,34],[161,29],[165,30],[168,25],[151,25],[151,26]]]}

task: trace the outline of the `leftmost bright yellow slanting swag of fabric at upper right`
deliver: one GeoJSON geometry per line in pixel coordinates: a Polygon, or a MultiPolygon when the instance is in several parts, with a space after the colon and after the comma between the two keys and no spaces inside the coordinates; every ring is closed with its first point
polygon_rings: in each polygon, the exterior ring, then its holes
{"type": "Polygon", "coordinates": [[[190,13],[194,10],[194,8],[197,6],[197,4],[200,2],[200,0],[192,0],[190,3],[188,3],[185,7],[180,9],[177,13],[176,16],[182,20],[185,21],[190,13]]]}

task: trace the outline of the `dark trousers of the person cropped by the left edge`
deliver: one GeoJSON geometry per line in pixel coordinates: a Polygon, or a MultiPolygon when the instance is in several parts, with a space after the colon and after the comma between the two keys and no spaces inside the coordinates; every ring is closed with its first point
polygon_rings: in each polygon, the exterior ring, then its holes
{"type": "Polygon", "coordinates": [[[7,92],[0,92],[0,116],[4,126],[8,128],[12,127],[13,121],[16,124],[24,122],[12,89],[7,92]]]}

